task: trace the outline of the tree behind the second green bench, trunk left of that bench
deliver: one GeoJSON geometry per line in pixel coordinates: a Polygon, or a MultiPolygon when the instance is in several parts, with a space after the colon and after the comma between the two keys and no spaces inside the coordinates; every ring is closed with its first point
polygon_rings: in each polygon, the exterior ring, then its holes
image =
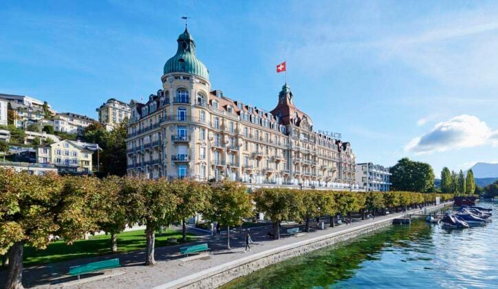
{"type": "Polygon", "coordinates": [[[209,204],[210,189],[206,184],[185,178],[173,180],[171,192],[178,199],[175,219],[182,223],[182,239],[186,242],[186,219],[206,210],[209,204]]]}

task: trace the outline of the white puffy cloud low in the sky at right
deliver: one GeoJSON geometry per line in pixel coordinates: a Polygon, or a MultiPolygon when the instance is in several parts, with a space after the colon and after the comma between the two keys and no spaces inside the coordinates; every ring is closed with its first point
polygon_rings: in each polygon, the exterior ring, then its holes
{"type": "Polygon", "coordinates": [[[498,144],[498,131],[491,131],[486,122],[475,116],[462,114],[437,123],[432,131],[413,138],[404,149],[414,153],[431,153],[488,143],[498,144]]]}

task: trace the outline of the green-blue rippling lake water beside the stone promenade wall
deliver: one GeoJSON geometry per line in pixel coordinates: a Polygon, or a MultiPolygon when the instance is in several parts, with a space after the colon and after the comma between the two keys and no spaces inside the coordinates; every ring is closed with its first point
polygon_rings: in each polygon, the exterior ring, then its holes
{"type": "Polygon", "coordinates": [[[224,288],[498,288],[498,205],[486,226],[393,225],[288,259],[224,288]]]}

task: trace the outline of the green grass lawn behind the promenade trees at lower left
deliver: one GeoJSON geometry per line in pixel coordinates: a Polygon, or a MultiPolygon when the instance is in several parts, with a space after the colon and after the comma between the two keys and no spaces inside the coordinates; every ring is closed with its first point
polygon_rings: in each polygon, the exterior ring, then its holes
{"type": "MultiPolygon", "coordinates": [[[[169,246],[166,239],[177,238],[182,242],[182,231],[166,230],[159,235],[155,233],[155,247],[169,246]]],[[[187,233],[187,242],[195,239],[194,235],[187,233]]],[[[79,240],[72,245],[63,241],[52,242],[45,250],[25,246],[24,266],[36,264],[55,263],[72,259],[93,257],[111,254],[111,235],[90,236],[87,240],[79,240]]],[[[128,231],[118,235],[118,252],[129,252],[145,248],[144,230],[128,231]]]]}

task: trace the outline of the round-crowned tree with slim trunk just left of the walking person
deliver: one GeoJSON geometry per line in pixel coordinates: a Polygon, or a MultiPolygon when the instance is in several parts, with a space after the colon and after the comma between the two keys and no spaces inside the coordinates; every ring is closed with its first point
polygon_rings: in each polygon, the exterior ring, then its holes
{"type": "Polygon", "coordinates": [[[252,215],[251,197],[246,186],[230,180],[213,184],[207,208],[209,220],[226,225],[226,246],[230,249],[230,226],[240,225],[243,217],[252,215]]]}

